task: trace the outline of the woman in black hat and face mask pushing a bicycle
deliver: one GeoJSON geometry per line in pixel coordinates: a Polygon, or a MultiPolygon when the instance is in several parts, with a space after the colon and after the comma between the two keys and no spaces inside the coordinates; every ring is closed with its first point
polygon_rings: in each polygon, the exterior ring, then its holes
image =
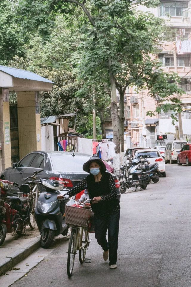
{"type": "MultiPolygon", "coordinates": [[[[83,170],[89,175],[74,186],[68,195],[71,197],[87,188],[89,197],[96,200],[91,203],[94,212],[95,238],[103,249],[103,259],[106,261],[109,257],[110,269],[116,269],[120,206],[115,182],[112,175],[106,172],[103,161],[97,156],[92,156],[84,163],[83,170]]],[[[58,198],[60,197],[62,195],[58,195],[58,198]]]]}

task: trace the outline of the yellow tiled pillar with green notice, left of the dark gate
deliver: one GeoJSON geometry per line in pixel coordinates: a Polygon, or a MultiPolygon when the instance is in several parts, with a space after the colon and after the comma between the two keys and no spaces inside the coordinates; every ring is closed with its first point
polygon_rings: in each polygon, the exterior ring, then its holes
{"type": "Polygon", "coordinates": [[[9,90],[0,88],[0,172],[11,166],[9,90]]]}

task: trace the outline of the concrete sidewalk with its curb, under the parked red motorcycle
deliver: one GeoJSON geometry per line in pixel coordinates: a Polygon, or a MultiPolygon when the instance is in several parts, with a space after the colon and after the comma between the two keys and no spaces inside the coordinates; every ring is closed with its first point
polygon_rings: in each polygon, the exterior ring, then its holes
{"type": "Polygon", "coordinates": [[[36,236],[39,234],[38,230],[27,230],[26,233],[26,238],[25,235],[19,237],[7,234],[4,243],[0,246],[0,275],[12,269],[40,247],[40,235],[36,236]]]}

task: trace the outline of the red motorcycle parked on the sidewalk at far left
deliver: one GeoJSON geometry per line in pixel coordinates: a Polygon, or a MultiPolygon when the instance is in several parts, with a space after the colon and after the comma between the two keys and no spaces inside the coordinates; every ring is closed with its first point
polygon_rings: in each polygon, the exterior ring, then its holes
{"type": "MultiPolygon", "coordinates": [[[[30,225],[30,206],[27,197],[6,196],[11,187],[17,183],[0,180],[0,245],[3,244],[6,234],[16,232],[21,234],[27,224],[30,225]]],[[[21,186],[21,190],[23,189],[21,186]]],[[[25,194],[29,192],[24,189],[25,194]]],[[[31,228],[34,228],[31,226],[31,228]]]]}

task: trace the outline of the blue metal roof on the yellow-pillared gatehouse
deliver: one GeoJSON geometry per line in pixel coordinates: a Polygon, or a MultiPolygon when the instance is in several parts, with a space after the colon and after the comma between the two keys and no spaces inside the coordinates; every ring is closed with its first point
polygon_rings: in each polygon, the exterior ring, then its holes
{"type": "Polygon", "coordinates": [[[54,82],[49,81],[46,78],[43,78],[43,77],[41,77],[41,76],[39,76],[33,72],[29,72],[29,71],[25,71],[25,70],[20,70],[20,69],[15,69],[15,68],[0,65],[0,71],[5,72],[6,74],[11,75],[15,78],[54,84],[54,82]]]}

